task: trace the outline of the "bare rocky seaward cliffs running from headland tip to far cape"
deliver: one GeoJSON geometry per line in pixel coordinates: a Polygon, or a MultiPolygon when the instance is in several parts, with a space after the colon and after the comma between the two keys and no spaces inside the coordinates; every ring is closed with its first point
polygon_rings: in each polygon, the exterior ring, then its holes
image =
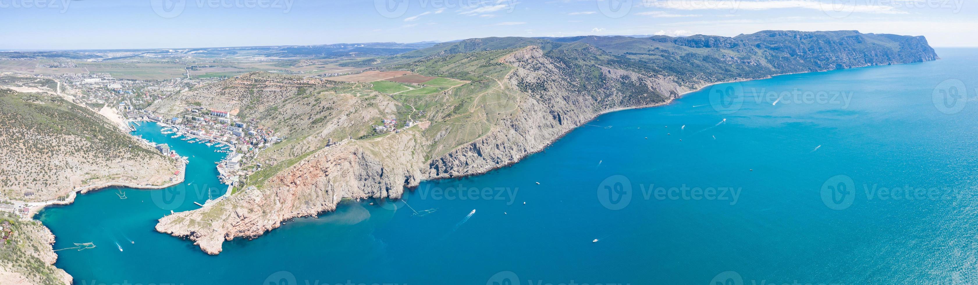
{"type": "MultiPolygon", "coordinates": [[[[853,40],[850,38],[854,34],[852,31],[840,33],[846,42],[853,40]]],[[[785,40],[789,42],[800,38],[791,33],[786,36],[785,40]]],[[[689,42],[694,39],[671,40],[685,40],[683,44],[694,47],[701,45],[689,42]]],[[[736,40],[723,40],[732,49],[743,48],[736,40]]],[[[891,57],[897,52],[894,50],[872,50],[861,56],[853,56],[854,53],[846,50],[828,57],[783,64],[780,68],[774,68],[775,65],[765,62],[766,59],[728,58],[724,60],[731,61],[732,65],[763,64],[768,65],[770,71],[733,71],[722,77],[638,72],[632,66],[618,62],[596,62],[594,59],[609,56],[594,48],[560,51],[561,54],[555,55],[555,51],[547,51],[538,45],[520,47],[494,60],[509,69],[506,75],[493,79],[503,94],[514,99],[510,102],[514,101],[515,108],[485,114],[496,119],[490,121],[489,131],[481,137],[430,158],[423,154],[437,146],[438,140],[446,134],[432,135],[431,130],[421,126],[407,128],[378,141],[345,141],[314,151],[299,163],[275,174],[261,187],[248,188],[203,209],[167,215],[159,219],[156,230],[187,237],[205,253],[216,255],[221,252],[224,241],[257,237],[281,226],[289,218],[331,212],[341,199],[396,199],[403,195],[405,187],[417,186],[422,180],[484,173],[511,165],[545,149],[562,135],[600,114],[668,104],[682,94],[713,83],[766,78],[778,73],[936,59],[922,38],[907,37],[904,42],[908,49],[919,49],[915,52],[919,56],[894,60],[891,57]],[[574,72],[582,67],[588,70],[574,72]],[[600,74],[598,79],[594,77],[596,73],[600,74]]],[[[867,47],[853,43],[851,49],[867,47]]]]}

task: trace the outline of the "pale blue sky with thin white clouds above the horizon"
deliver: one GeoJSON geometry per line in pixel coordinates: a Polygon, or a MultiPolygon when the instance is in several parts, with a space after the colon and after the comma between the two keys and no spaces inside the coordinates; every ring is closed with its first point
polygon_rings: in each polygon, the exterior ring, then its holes
{"type": "Polygon", "coordinates": [[[765,29],[926,36],[978,46],[974,0],[0,0],[0,49],[450,41],[765,29]]]}

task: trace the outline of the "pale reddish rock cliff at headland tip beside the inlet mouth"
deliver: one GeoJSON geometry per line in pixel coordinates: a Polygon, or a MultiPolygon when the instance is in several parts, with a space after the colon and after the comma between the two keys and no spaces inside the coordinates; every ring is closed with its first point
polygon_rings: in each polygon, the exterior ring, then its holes
{"type": "Polygon", "coordinates": [[[225,240],[257,237],[289,218],[332,212],[342,199],[401,197],[406,184],[420,182],[423,158],[421,152],[387,150],[420,148],[415,139],[419,133],[415,129],[380,141],[349,140],[323,148],[261,188],[246,189],[200,210],[164,216],[156,231],[188,237],[216,255],[225,240]]]}

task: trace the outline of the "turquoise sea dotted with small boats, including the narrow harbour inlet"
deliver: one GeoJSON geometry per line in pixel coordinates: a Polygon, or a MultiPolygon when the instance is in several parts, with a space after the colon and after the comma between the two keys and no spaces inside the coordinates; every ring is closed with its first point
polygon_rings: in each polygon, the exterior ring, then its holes
{"type": "Polygon", "coordinates": [[[346,202],[218,256],[154,226],[224,193],[223,154],[145,125],[193,156],[185,183],[37,218],[56,249],[97,246],[59,252],[75,284],[974,284],[978,49],[938,54],[610,113],[410,208],[346,202]]]}

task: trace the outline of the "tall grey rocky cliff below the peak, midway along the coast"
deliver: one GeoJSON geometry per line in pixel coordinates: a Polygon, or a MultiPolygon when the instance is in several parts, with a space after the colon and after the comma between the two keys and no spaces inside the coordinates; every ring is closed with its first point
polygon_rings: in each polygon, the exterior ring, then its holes
{"type": "MultiPolygon", "coordinates": [[[[605,77],[599,86],[582,90],[586,80],[566,63],[545,56],[537,46],[513,52],[500,62],[515,69],[501,84],[534,86],[518,104],[519,113],[501,119],[484,138],[460,146],[428,164],[426,178],[446,178],[482,173],[515,163],[546,148],[556,138],[602,113],[667,103],[690,89],[666,77],[649,77],[632,71],[597,67],[605,77]],[[564,80],[553,80],[553,78],[564,80]],[[625,94],[617,85],[638,86],[638,94],[625,94]],[[582,96],[587,94],[587,96],[582,96]]],[[[527,89],[529,87],[523,87],[527,89]]]]}

